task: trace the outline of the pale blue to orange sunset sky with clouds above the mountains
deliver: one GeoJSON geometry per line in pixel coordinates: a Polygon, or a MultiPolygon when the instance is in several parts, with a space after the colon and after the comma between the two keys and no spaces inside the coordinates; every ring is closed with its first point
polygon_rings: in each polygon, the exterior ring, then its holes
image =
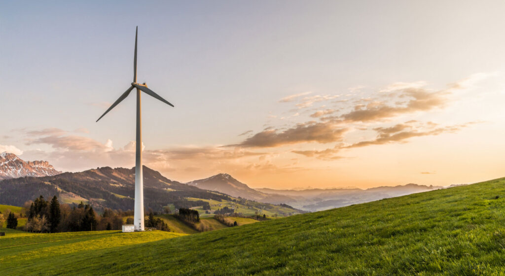
{"type": "Polygon", "coordinates": [[[2,1],[0,151],[274,189],[505,176],[505,2],[2,1]]]}

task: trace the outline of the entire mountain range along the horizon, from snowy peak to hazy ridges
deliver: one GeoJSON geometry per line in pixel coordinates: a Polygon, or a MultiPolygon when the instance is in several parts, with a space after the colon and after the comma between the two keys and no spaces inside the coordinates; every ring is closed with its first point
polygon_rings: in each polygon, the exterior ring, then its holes
{"type": "MultiPolygon", "coordinates": [[[[161,210],[168,203],[176,207],[191,207],[203,204],[203,201],[195,202],[195,199],[231,200],[231,197],[235,197],[265,204],[288,204],[299,210],[318,211],[443,188],[407,184],[366,190],[253,189],[225,173],[181,183],[145,166],[143,168],[145,207],[154,210],[161,210]]],[[[60,200],[66,203],[83,201],[99,208],[114,209],[131,209],[133,206],[134,168],[103,167],[79,173],[61,173],[47,161],[24,161],[13,153],[4,152],[0,154],[0,180],[2,179],[2,204],[19,206],[40,194],[46,197],[59,194],[60,200]]]]}

